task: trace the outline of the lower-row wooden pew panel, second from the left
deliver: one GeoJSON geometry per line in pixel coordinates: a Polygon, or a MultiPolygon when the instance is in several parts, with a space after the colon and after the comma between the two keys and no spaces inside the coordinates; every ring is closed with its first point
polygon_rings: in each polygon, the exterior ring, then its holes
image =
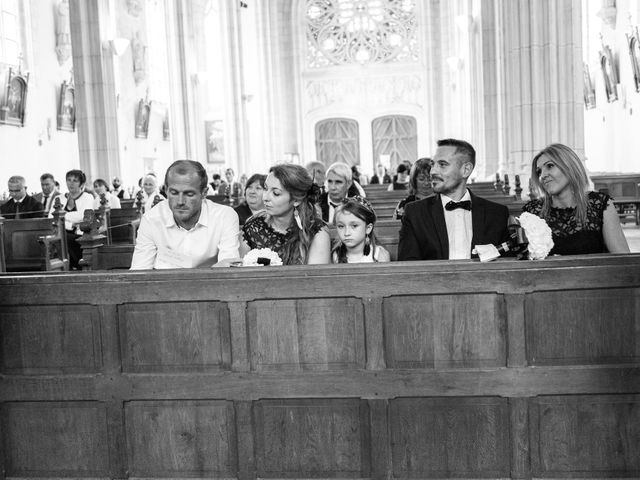
{"type": "Polygon", "coordinates": [[[133,477],[237,475],[231,402],[128,402],[125,422],[133,477]]]}

